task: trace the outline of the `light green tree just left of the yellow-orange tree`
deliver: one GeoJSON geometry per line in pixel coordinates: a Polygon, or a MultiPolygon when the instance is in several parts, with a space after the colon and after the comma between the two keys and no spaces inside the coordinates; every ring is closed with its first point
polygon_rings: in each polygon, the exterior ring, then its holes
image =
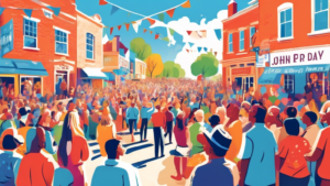
{"type": "Polygon", "coordinates": [[[150,55],[152,55],[152,47],[146,44],[142,37],[133,39],[130,43],[130,51],[135,53],[136,58],[145,61],[150,55]]]}

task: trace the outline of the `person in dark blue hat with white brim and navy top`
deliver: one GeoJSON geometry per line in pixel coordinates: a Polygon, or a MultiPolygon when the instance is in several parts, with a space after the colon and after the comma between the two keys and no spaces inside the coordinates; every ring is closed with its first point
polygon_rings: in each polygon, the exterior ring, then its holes
{"type": "Polygon", "coordinates": [[[211,132],[204,130],[198,134],[197,140],[202,144],[209,162],[197,166],[191,176],[191,186],[238,185],[238,167],[233,162],[224,158],[232,139],[223,125],[217,125],[211,132]]]}

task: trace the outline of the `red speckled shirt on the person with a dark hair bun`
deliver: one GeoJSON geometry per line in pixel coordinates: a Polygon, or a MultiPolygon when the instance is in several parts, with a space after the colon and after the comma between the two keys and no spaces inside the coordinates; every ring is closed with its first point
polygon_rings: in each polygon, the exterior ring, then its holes
{"type": "Polygon", "coordinates": [[[278,156],[285,162],[280,173],[295,178],[309,176],[305,154],[311,151],[309,142],[302,136],[289,135],[285,138],[278,146],[278,156]]]}

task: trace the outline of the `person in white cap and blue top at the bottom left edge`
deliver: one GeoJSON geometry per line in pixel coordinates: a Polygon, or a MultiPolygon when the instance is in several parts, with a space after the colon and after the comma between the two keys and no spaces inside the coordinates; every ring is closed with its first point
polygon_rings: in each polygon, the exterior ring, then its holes
{"type": "Polygon", "coordinates": [[[22,156],[14,152],[24,139],[13,128],[3,131],[0,138],[0,183],[3,186],[16,184],[22,156]]]}

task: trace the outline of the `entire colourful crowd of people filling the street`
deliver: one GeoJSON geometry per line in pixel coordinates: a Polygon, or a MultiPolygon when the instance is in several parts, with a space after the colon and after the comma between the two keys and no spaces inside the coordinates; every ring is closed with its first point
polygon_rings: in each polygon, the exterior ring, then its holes
{"type": "Polygon", "coordinates": [[[102,89],[86,84],[61,97],[2,95],[0,185],[142,185],[139,171],[120,158],[125,149],[117,132],[128,128],[131,142],[144,142],[152,128],[155,158],[165,156],[167,136],[176,143],[170,151],[175,180],[190,179],[193,186],[329,186],[330,101],[315,103],[309,92],[283,101],[279,87],[268,91],[250,88],[242,94],[238,87],[233,92],[207,80],[146,79],[102,89]],[[97,140],[107,158],[91,183],[84,171],[91,156],[89,140],[97,140]]]}

